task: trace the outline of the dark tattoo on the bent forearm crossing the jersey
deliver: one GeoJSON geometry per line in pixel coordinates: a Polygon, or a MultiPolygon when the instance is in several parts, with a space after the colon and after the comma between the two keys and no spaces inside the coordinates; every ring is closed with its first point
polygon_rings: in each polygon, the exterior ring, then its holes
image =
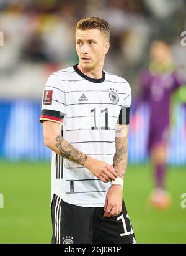
{"type": "Polygon", "coordinates": [[[60,150],[60,156],[84,166],[85,161],[87,160],[87,155],[74,148],[73,145],[64,140],[60,135],[56,137],[56,147],[60,150]]]}

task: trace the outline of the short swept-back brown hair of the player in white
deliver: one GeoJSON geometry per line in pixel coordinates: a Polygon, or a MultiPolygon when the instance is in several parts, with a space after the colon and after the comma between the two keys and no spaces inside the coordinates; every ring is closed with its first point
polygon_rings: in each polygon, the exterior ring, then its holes
{"type": "Polygon", "coordinates": [[[104,19],[100,19],[99,17],[87,17],[84,19],[81,19],[80,21],[78,21],[78,24],[76,26],[76,31],[78,29],[81,30],[86,30],[86,29],[100,29],[101,32],[103,32],[105,34],[105,36],[107,36],[107,39],[109,41],[110,39],[110,25],[108,24],[107,21],[105,21],[104,19]]]}

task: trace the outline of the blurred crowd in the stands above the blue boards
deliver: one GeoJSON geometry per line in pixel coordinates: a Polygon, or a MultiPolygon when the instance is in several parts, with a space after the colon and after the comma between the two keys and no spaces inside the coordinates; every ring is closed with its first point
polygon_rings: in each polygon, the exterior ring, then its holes
{"type": "Polygon", "coordinates": [[[126,78],[134,92],[155,39],[172,46],[177,69],[185,73],[185,14],[185,0],[0,0],[0,97],[40,99],[51,72],[78,63],[74,31],[88,16],[112,27],[104,69],[126,78]]]}

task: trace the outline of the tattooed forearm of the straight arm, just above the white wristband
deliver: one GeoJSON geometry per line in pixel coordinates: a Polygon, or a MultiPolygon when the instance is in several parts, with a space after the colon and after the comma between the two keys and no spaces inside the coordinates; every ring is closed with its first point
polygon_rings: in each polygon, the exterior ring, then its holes
{"type": "Polygon", "coordinates": [[[113,156],[113,166],[118,169],[118,175],[123,179],[128,158],[128,140],[123,137],[115,138],[116,152],[113,156]]]}

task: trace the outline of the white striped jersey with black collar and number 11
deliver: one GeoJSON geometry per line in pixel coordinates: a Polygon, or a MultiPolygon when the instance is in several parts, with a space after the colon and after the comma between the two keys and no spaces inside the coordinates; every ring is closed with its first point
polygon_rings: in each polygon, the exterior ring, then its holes
{"type": "MultiPolygon", "coordinates": [[[[102,78],[90,78],[76,64],[48,78],[40,121],[60,123],[60,134],[66,141],[88,156],[112,165],[115,125],[121,108],[130,105],[131,88],[125,79],[104,71],[102,78]]],[[[104,207],[110,186],[89,169],[52,151],[51,199],[56,194],[69,204],[104,207]]]]}

